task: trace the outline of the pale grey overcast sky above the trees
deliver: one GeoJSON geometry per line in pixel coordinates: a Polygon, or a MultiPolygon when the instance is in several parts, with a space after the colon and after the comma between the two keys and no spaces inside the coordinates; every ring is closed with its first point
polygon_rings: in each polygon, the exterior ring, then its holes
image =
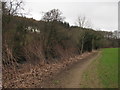
{"type": "Polygon", "coordinates": [[[92,28],[114,31],[118,29],[118,0],[24,0],[27,17],[40,20],[42,12],[59,9],[65,21],[75,25],[79,15],[86,16],[92,28]]]}

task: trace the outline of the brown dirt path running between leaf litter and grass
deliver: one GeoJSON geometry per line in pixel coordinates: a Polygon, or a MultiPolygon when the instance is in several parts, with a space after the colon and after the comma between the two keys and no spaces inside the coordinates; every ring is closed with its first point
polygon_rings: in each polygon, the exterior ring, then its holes
{"type": "Polygon", "coordinates": [[[57,88],[80,88],[81,77],[86,68],[99,56],[98,52],[92,53],[92,55],[81,59],[76,64],[72,65],[69,69],[56,76],[49,86],[57,88]]]}

